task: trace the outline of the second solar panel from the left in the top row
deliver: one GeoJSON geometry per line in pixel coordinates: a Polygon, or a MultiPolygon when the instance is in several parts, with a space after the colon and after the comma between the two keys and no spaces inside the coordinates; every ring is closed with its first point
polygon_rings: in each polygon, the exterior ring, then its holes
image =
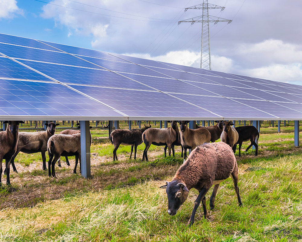
{"type": "Polygon", "coordinates": [[[80,48],[80,47],[74,47],[74,46],[69,46],[65,44],[56,44],[56,43],[51,43],[47,41],[42,41],[43,43],[49,44],[55,48],[58,48],[62,51],[65,51],[70,54],[75,54],[75,55],[84,55],[84,56],[91,56],[91,57],[97,57],[97,58],[102,58],[106,60],[115,60],[115,61],[124,61],[118,57],[114,57],[104,51],[96,51],[96,50],[91,50],[91,49],[86,49],[86,48],[80,48]]]}

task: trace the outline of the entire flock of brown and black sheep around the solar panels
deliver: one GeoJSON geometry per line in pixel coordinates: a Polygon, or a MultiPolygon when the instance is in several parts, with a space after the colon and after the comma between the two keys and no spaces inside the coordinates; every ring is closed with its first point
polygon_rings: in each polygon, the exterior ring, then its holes
{"type": "MultiPolygon", "coordinates": [[[[114,144],[113,160],[117,159],[116,151],[120,145],[131,145],[130,159],[134,147],[134,159],[136,159],[137,146],[142,142],[145,144],[142,160],[148,160],[148,149],[151,144],[156,146],[165,146],[168,148],[171,156],[171,149],[174,156],[174,146],[182,146],[184,151],[184,164],[178,169],[171,182],[166,182],[161,188],[166,189],[168,195],[168,213],[175,215],[178,208],[188,197],[191,188],[196,188],[199,195],[194,202],[189,225],[194,223],[196,210],[202,202],[204,217],[208,218],[205,206],[207,191],[214,185],[212,196],[210,197],[210,208],[214,208],[215,196],[221,181],[230,177],[233,179],[239,206],[242,202],[239,195],[238,167],[235,158],[236,146],[239,144],[239,156],[242,142],[251,141],[251,145],[246,151],[254,145],[255,155],[258,154],[258,145],[256,138],[259,138],[259,132],[254,126],[232,127],[232,121],[215,121],[217,124],[209,127],[197,126],[197,129],[189,129],[189,121],[168,121],[171,127],[165,129],[151,128],[145,126],[142,129],[116,129],[111,132],[110,140],[114,144]],[[179,128],[178,129],[178,123],[179,128]],[[217,139],[221,142],[215,142],[217,139]],[[210,143],[212,142],[212,143],[210,143]],[[187,158],[187,149],[192,149],[187,158]]],[[[69,165],[68,156],[76,156],[76,164],[73,170],[76,173],[78,161],[80,161],[81,170],[81,137],[80,130],[66,129],[55,134],[56,126],[59,124],[47,123],[46,131],[41,132],[18,132],[19,124],[23,121],[5,121],[7,123],[6,131],[0,132],[0,189],[2,188],[2,160],[5,159],[6,184],[9,191],[14,189],[10,186],[9,173],[10,164],[14,172],[17,169],[14,165],[14,159],[18,153],[36,153],[41,152],[43,170],[46,170],[46,151],[48,152],[48,175],[55,177],[55,164],[60,156],[66,157],[66,163],[69,165]]],[[[78,124],[79,127],[79,124],[78,124]]],[[[91,127],[92,128],[92,127],[91,127]]],[[[90,134],[90,144],[92,138],[90,134]]],[[[183,156],[183,153],[182,153],[183,156]]]]}

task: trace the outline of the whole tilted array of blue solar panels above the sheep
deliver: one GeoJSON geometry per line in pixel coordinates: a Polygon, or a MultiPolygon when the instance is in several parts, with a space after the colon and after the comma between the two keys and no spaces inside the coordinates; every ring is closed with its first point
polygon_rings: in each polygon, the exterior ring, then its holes
{"type": "Polygon", "coordinates": [[[302,86],[0,34],[0,119],[302,119],[302,86]]]}

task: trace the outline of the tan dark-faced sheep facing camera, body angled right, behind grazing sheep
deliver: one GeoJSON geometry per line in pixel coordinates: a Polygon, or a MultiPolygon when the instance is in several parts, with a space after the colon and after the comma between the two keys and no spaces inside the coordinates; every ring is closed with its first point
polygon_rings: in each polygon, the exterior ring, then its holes
{"type": "Polygon", "coordinates": [[[184,161],[187,159],[187,149],[193,150],[196,146],[211,141],[211,134],[206,128],[189,129],[187,126],[189,122],[190,121],[178,121],[180,125],[180,142],[185,150],[184,161]]]}

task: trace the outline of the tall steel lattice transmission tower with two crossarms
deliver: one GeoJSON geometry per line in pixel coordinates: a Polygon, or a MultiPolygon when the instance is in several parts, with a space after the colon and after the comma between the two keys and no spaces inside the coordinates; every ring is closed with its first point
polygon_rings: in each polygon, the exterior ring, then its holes
{"type": "Polygon", "coordinates": [[[207,0],[203,0],[202,4],[198,4],[189,8],[185,8],[185,11],[188,9],[202,9],[202,15],[194,18],[185,19],[179,21],[178,24],[182,22],[188,22],[194,24],[202,23],[201,27],[201,55],[200,55],[200,68],[211,70],[211,52],[210,52],[210,33],[209,33],[209,23],[217,24],[218,22],[232,22],[232,20],[225,18],[218,18],[215,16],[209,15],[209,9],[220,8],[221,11],[225,7],[210,4],[207,0]]]}

